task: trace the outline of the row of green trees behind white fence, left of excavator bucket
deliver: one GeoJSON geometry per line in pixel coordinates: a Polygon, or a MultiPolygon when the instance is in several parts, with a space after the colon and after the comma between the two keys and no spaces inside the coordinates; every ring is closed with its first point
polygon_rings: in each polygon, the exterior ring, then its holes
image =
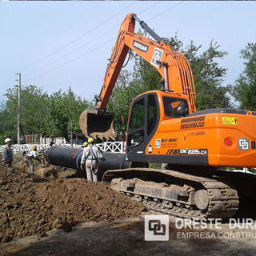
{"type": "MultiPolygon", "coordinates": [[[[18,94],[17,86],[6,91],[6,102],[0,107],[0,142],[4,138],[17,139],[18,94]]],[[[37,86],[22,86],[22,134],[41,134],[46,137],[64,137],[68,141],[70,130],[80,131],[78,119],[89,106],[69,90],[48,95],[37,86]]]]}

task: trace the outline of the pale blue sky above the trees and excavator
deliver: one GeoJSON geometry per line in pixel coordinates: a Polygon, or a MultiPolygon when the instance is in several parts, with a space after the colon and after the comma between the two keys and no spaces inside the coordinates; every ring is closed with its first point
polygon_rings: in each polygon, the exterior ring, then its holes
{"type": "MultiPolygon", "coordinates": [[[[118,33],[128,13],[161,36],[182,42],[214,38],[229,55],[225,83],[243,70],[239,51],[256,42],[256,2],[0,2],[0,100],[22,73],[22,85],[52,93],[71,86],[82,98],[98,94],[118,33]]],[[[138,29],[138,24],[137,24],[138,29]]]]}

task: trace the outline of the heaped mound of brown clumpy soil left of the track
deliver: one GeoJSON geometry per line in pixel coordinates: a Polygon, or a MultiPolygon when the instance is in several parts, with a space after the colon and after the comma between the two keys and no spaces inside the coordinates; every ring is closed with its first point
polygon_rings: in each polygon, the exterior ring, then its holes
{"type": "Polygon", "coordinates": [[[65,231],[82,222],[133,217],[142,204],[85,179],[27,177],[22,170],[0,167],[0,242],[31,234],[65,231]]]}

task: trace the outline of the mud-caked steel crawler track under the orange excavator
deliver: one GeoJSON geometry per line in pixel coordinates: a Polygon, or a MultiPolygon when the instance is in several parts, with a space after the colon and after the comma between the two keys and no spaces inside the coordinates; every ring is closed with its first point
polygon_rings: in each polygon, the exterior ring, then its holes
{"type": "Polygon", "coordinates": [[[230,218],[238,210],[238,191],[221,178],[131,168],[107,171],[102,182],[148,210],[178,218],[230,218]]]}

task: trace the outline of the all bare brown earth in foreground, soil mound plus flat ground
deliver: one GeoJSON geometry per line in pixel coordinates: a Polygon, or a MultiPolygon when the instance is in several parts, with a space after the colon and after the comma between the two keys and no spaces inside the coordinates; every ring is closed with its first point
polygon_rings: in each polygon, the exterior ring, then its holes
{"type": "MultiPolygon", "coordinates": [[[[180,230],[170,217],[170,239],[144,240],[141,204],[106,186],[74,177],[74,171],[24,162],[0,166],[0,255],[192,255],[254,256],[256,230],[180,230]],[[79,224],[82,223],[82,224],[79,224]],[[71,231],[71,232],[70,232],[71,231]],[[253,238],[180,238],[180,232],[254,233],[253,238]]],[[[254,221],[255,223],[255,221],[254,221]]]]}

